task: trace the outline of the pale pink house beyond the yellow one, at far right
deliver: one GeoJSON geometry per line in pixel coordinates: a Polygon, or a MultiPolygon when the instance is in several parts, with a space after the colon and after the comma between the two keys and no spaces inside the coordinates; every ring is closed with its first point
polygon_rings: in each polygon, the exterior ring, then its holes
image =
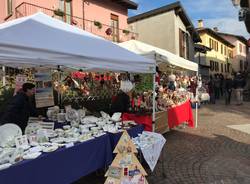
{"type": "Polygon", "coordinates": [[[232,70],[236,72],[245,72],[248,68],[248,45],[243,36],[219,33],[224,39],[229,41],[235,47],[233,49],[232,70]]]}

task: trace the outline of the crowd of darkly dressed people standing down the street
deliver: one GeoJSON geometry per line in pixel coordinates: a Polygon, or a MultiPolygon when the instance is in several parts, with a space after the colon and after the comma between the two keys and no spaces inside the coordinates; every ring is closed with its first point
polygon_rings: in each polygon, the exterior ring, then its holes
{"type": "Polygon", "coordinates": [[[243,91],[246,80],[241,73],[237,73],[235,76],[228,74],[225,77],[222,74],[211,75],[206,85],[212,104],[215,104],[216,100],[224,98],[225,104],[229,105],[233,91],[236,95],[237,105],[243,104],[243,91]]]}

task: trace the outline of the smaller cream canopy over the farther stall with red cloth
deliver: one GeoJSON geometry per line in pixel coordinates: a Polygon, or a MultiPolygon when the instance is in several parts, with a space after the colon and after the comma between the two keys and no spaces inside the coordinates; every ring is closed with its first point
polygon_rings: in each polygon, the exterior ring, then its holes
{"type": "Polygon", "coordinates": [[[137,41],[130,40],[127,42],[119,43],[119,45],[136,54],[147,56],[148,58],[155,59],[158,64],[167,63],[186,70],[198,71],[198,64],[179,57],[164,49],[154,47],[152,45],[137,41]]]}

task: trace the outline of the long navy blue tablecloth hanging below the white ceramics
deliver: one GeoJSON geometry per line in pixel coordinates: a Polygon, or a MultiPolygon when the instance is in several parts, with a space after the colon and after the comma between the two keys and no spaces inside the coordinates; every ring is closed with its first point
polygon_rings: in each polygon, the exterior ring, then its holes
{"type": "Polygon", "coordinates": [[[69,184],[112,162],[109,135],[0,171],[1,184],[69,184]]]}

